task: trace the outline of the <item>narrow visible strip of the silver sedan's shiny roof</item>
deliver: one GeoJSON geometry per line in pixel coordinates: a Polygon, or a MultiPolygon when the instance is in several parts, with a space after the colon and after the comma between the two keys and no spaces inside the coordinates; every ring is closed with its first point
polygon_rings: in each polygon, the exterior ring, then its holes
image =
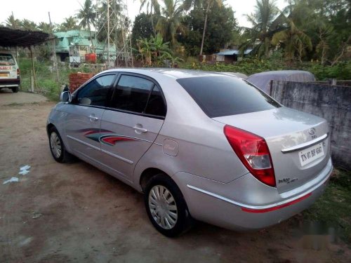
{"type": "MultiPolygon", "coordinates": [[[[145,74],[146,72],[154,72],[164,76],[171,77],[172,79],[185,79],[199,76],[223,76],[220,72],[204,72],[194,69],[170,69],[170,68],[119,68],[108,69],[105,72],[131,72],[138,74],[145,74]]],[[[234,76],[235,77],[235,76],[234,76]]]]}

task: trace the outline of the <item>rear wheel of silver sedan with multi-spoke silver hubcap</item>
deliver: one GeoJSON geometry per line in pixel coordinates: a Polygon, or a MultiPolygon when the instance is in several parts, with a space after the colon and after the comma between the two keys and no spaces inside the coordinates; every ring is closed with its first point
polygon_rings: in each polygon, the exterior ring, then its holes
{"type": "Polygon", "coordinates": [[[175,237],[190,230],[192,219],[179,187],[162,173],[154,175],[145,187],[146,213],[164,236],[175,237]]]}

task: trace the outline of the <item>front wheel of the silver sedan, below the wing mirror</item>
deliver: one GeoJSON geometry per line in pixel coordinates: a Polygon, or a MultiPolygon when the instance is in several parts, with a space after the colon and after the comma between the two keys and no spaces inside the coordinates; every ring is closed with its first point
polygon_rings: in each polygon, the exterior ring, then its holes
{"type": "Polygon", "coordinates": [[[65,144],[63,144],[61,136],[55,127],[51,127],[48,130],[48,141],[51,154],[55,161],[58,163],[67,163],[72,161],[73,156],[66,151],[65,144]]]}

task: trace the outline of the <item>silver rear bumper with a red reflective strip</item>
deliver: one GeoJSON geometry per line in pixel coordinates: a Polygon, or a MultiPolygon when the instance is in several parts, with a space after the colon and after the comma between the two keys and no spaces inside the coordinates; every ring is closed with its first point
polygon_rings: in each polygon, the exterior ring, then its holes
{"type": "Polygon", "coordinates": [[[323,193],[332,170],[329,160],[314,180],[282,194],[272,187],[268,189],[271,194],[253,190],[253,184],[260,182],[250,174],[228,184],[206,182],[209,180],[204,177],[187,173],[177,173],[173,179],[195,219],[227,229],[250,230],[278,224],[308,208],[323,193]]]}

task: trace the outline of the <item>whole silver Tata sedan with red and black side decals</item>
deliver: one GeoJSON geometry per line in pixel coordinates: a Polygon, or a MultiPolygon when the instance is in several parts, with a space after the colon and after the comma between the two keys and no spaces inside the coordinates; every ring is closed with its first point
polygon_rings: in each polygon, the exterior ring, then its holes
{"type": "Polygon", "coordinates": [[[51,153],[91,163],[144,193],[154,227],[201,220],[261,229],[308,208],[332,171],[324,119],[243,79],[173,69],[110,69],[48,116],[51,153]]]}

